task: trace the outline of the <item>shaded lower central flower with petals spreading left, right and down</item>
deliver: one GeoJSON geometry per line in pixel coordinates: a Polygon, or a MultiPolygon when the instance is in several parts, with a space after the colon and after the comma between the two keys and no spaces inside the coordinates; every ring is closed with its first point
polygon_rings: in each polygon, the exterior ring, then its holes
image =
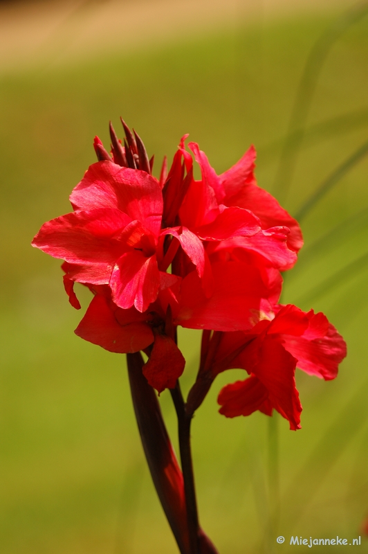
{"type": "MultiPolygon", "coordinates": [[[[67,264],[63,267],[68,271],[67,264]]],[[[134,306],[123,309],[116,305],[107,285],[89,285],[95,296],[75,333],[110,352],[143,350],[149,356],[143,368],[149,384],[159,393],[174,388],[185,366],[174,341],[178,325],[225,331],[250,328],[255,313],[270,310],[268,296],[273,296],[275,289],[279,294],[281,289],[281,280],[271,288],[256,267],[244,263],[214,263],[212,274],[210,298],[206,298],[196,271],[183,280],[179,277],[174,285],[167,274],[167,286],[161,287],[156,301],[145,312],[134,306]]],[[[69,287],[73,303],[76,297],[69,287]]]]}

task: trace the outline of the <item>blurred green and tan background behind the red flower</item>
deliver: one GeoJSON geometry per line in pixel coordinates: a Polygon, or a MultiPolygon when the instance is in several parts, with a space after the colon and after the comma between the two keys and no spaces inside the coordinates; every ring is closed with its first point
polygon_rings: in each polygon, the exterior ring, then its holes
{"type": "MultiPolygon", "coordinates": [[[[297,371],[297,432],[260,413],[219,415],[219,388],[239,372],[221,375],[194,420],[194,466],[201,522],[221,554],[287,553],[291,535],[361,535],[368,552],[368,158],[341,170],[368,139],[367,12],[352,0],[0,3],[1,554],[177,551],[124,356],[73,334],[82,313],[59,262],[30,247],[44,221],[70,210],[93,137],[108,145],[120,115],[156,172],[189,132],[217,172],[254,143],[259,185],[293,215],[331,184],[302,220],[283,301],[323,310],[344,335],[340,375],[297,371]]],[[[77,292],[83,312],[89,298],[77,292]]],[[[180,340],[187,390],[199,337],[180,340]]],[[[174,438],[167,391],[160,403],[174,438]]]]}

